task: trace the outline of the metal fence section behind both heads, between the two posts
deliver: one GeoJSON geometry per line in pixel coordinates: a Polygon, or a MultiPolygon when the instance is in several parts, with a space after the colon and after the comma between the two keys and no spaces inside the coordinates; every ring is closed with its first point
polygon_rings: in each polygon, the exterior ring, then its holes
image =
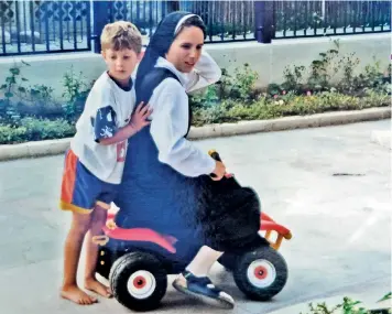
{"type": "MultiPolygon", "coordinates": [[[[202,17],[207,28],[206,42],[254,41],[254,1],[100,1],[94,4],[99,20],[95,33],[102,25],[129,20],[142,34],[154,33],[157,23],[171,11],[181,10],[202,17]]],[[[96,18],[97,17],[97,18],[96,18]]],[[[98,36],[95,39],[98,40],[98,36]]],[[[98,47],[97,47],[98,50],[98,47]]]]}

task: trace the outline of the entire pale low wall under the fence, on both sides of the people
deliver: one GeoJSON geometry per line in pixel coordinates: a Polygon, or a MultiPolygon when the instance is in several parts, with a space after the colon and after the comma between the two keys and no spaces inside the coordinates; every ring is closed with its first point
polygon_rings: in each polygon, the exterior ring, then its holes
{"type": "MultiPolygon", "coordinates": [[[[276,40],[272,44],[257,42],[207,44],[206,50],[221,67],[232,71],[243,63],[249,63],[258,72],[258,86],[281,83],[286,65],[308,66],[318,54],[334,45],[334,37],[276,40]]],[[[386,68],[391,57],[391,34],[366,34],[340,36],[341,54],[352,53],[360,58],[359,69],[373,63],[373,56],[386,68]]],[[[53,87],[56,95],[63,93],[63,75],[74,67],[81,72],[88,82],[97,78],[105,71],[100,55],[92,53],[47,54],[20,57],[0,57],[0,85],[8,76],[13,62],[21,59],[31,64],[23,67],[22,74],[28,84],[44,84],[53,87]]]]}

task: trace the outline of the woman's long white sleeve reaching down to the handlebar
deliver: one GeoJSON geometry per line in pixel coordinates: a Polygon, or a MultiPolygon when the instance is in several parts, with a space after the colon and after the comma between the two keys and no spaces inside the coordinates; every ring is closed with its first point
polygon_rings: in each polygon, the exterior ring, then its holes
{"type": "Polygon", "coordinates": [[[210,174],[215,161],[184,138],[188,129],[188,97],[179,83],[173,78],[163,80],[149,104],[153,107],[150,132],[159,160],[185,176],[210,174]]]}

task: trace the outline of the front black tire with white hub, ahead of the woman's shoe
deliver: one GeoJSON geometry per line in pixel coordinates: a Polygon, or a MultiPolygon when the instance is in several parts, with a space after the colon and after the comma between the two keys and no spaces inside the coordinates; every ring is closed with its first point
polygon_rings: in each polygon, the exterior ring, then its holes
{"type": "Polygon", "coordinates": [[[237,286],[249,299],[257,301],[268,301],[280,293],[287,275],[284,258],[269,246],[243,253],[233,269],[237,286]]]}

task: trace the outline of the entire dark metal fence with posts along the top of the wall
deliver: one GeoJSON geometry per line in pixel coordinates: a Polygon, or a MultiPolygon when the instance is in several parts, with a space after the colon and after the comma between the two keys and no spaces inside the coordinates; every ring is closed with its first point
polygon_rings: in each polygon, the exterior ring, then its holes
{"type": "Polygon", "coordinates": [[[390,1],[0,1],[0,56],[99,51],[110,21],[150,36],[173,10],[202,15],[207,42],[391,32],[390,1]]]}

